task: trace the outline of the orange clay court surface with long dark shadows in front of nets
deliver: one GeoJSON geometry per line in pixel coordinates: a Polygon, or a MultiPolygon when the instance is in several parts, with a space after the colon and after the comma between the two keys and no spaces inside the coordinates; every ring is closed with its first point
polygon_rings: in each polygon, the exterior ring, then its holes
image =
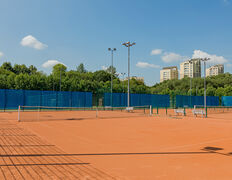
{"type": "Polygon", "coordinates": [[[232,179],[232,113],[16,119],[0,113],[0,179],[232,179]]]}

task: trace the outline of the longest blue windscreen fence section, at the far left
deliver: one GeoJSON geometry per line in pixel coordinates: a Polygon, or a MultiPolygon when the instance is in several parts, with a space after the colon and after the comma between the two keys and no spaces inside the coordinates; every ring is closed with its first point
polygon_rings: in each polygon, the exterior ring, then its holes
{"type": "Polygon", "coordinates": [[[0,89],[0,109],[18,106],[92,107],[91,92],[0,89]]]}

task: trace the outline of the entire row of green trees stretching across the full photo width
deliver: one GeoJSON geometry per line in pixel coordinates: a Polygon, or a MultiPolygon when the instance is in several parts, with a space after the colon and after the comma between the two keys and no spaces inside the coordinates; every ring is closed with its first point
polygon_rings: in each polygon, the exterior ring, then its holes
{"type": "MultiPolygon", "coordinates": [[[[93,93],[110,92],[111,72],[113,73],[113,92],[126,93],[127,80],[120,80],[115,67],[95,72],[87,71],[81,63],[75,70],[68,71],[63,64],[53,67],[47,75],[33,65],[11,65],[4,62],[0,66],[0,89],[50,90],[50,91],[88,91],[93,93]]],[[[204,95],[204,79],[190,78],[167,80],[147,86],[143,81],[131,79],[130,92],[144,94],[204,95]]],[[[232,75],[229,73],[206,78],[208,96],[232,96],[232,75]]]]}

